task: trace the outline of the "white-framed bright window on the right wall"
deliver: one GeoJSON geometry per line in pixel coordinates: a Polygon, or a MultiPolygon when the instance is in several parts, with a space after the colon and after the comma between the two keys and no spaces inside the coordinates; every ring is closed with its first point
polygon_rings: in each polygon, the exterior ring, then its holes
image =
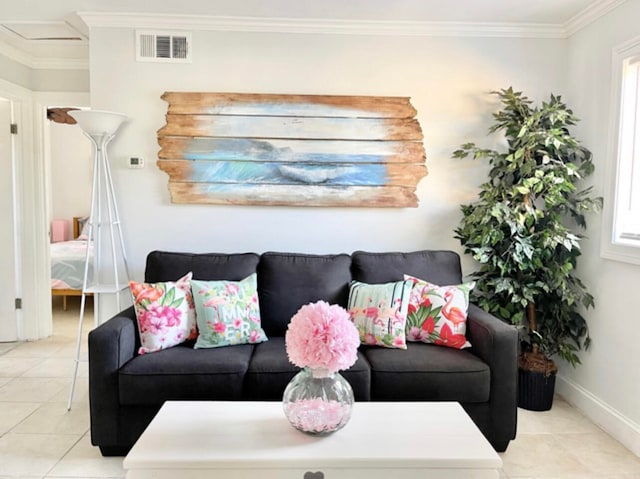
{"type": "Polygon", "coordinates": [[[640,264],[640,37],[613,49],[601,255],[640,264]]]}

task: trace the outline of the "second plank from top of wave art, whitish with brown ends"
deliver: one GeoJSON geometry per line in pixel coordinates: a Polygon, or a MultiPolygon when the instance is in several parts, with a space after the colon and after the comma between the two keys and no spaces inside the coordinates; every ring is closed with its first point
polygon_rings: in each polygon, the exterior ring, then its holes
{"type": "Polygon", "coordinates": [[[417,120],[395,118],[309,118],[167,115],[159,136],[292,138],[310,140],[422,140],[417,120]]]}

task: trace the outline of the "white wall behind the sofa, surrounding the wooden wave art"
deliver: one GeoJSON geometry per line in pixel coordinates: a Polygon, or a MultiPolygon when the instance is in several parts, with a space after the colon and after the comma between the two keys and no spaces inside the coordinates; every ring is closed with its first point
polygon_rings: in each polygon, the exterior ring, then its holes
{"type": "MultiPolygon", "coordinates": [[[[147,253],[457,249],[459,204],[471,201],[486,166],[450,158],[486,137],[487,92],[513,85],[546,97],[565,85],[563,40],[194,32],[192,64],[136,63],[134,32],[91,32],[91,102],[131,120],[110,157],[133,276],[147,253]],[[118,68],[114,68],[117,65],[118,68]],[[540,74],[544,72],[544,74],[540,74]],[[430,174],[416,209],[174,205],[155,162],[164,91],[411,96],[430,174]],[[126,169],[143,156],[146,167],[126,169]]],[[[468,270],[467,270],[468,272],[468,270]]]]}

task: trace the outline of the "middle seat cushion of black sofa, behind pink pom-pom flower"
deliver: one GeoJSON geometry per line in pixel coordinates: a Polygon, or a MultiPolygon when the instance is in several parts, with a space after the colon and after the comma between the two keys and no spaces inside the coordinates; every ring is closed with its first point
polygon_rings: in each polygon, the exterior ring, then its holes
{"type": "MultiPolygon", "coordinates": [[[[284,389],[300,368],[289,362],[283,337],[271,337],[254,346],[249,369],[245,375],[247,399],[280,401],[284,389]]],[[[371,386],[369,363],[362,353],[351,368],[340,371],[351,384],[356,401],[368,401],[371,386]]]]}

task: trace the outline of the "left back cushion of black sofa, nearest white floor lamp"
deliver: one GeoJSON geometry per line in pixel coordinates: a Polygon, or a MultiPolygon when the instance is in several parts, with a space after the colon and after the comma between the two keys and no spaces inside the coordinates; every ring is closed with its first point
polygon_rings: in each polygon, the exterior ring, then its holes
{"type": "Polygon", "coordinates": [[[175,281],[188,272],[193,279],[240,281],[257,271],[260,256],[255,253],[174,253],[152,251],[147,256],[145,281],[175,281]]]}

